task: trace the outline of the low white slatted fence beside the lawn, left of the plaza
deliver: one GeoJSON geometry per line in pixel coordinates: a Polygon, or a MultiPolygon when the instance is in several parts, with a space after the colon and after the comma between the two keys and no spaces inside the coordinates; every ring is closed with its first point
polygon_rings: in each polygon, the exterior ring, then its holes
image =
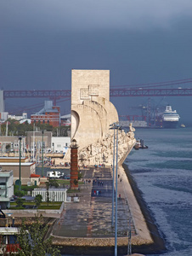
{"type": "Polygon", "coordinates": [[[66,201],[66,191],[67,189],[34,189],[32,191],[32,196],[42,195],[42,201],[66,201]]]}

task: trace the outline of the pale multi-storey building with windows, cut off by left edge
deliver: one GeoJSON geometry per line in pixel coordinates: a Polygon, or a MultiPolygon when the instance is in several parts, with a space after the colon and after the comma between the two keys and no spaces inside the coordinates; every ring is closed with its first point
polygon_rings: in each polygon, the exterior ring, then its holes
{"type": "Polygon", "coordinates": [[[14,195],[14,172],[0,170],[0,206],[6,209],[14,195]]]}

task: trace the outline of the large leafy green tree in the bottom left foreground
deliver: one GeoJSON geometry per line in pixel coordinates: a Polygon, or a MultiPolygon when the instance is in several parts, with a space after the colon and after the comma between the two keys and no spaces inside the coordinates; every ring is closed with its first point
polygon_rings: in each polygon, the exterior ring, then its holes
{"type": "Polygon", "coordinates": [[[28,227],[23,220],[17,235],[20,244],[17,255],[44,256],[48,253],[51,256],[60,256],[59,247],[52,247],[52,239],[45,239],[47,231],[48,224],[43,224],[42,216],[36,216],[35,222],[28,227]]]}

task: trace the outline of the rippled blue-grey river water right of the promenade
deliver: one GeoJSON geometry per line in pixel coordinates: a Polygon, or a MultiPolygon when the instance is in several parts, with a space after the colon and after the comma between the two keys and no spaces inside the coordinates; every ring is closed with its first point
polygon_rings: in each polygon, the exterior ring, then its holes
{"type": "Polygon", "coordinates": [[[133,149],[127,166],[166,239],[163,255],[190,256],[192,129],[138,129],[135,137],[144,139],[149,148],[133,149]]]}

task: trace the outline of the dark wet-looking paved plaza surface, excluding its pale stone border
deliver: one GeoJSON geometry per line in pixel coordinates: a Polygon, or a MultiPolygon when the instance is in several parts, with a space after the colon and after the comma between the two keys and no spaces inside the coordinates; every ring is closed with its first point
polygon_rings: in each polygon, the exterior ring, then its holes
{"type": "MultiPolygon", "coordinates": [[[[61,218],[54,226],[53,235],[63,237],[114,237],[111,227],[112,215],[112,171],[110,168],[89,168],[83,173],[84,183],[77,195],[79,202],[65,204],[61,218]]],[[[127,195],[118,181],[117,227],[118,237],[127,236],[130,217],[127,195]]],[[[115,205],[115,204],[114,204],[115,205]]],[[[115,210],[114,210],[115,212],[115,210]]],[[[114,221],[115,223],[115,221],[114,221]]],[[[133,221],[132,236],[136,235],[133,221]]]]}

